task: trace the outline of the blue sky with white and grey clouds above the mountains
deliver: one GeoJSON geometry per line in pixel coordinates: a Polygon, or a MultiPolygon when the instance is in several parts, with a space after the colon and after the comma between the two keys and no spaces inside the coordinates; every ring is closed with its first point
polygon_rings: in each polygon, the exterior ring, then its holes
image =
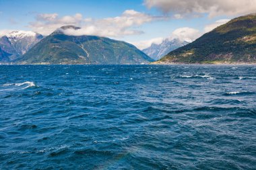
{"type": "Polygon", "coordinates": [[[0,36],[13,30],[123,40],[139,49],[179,38],[193,41],[230,19],[256,12],[256,0],[0,0],[0,36]]]}

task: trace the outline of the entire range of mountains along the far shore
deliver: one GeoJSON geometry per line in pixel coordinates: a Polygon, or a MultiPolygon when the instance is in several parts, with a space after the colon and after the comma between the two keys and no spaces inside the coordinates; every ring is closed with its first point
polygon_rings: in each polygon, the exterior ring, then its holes
{"type": "Polygon", "coordinates": [[[255,14],[232,19],[190,44],[178,39],[166,39],[161,44],[152,44],[143,52],[127,42],[110,38],[65,34],[65,31],[70,29],[80,28],[63,26],[46,37],[35,32],[10,32],[0,38],[0,63],[119,65],[149,62],[153,64],[256,62],[255,14]],[[175,48],[177,49],[174,50],[175,48]],[[150,56],[159,60],[153,62],[150,56]]]}

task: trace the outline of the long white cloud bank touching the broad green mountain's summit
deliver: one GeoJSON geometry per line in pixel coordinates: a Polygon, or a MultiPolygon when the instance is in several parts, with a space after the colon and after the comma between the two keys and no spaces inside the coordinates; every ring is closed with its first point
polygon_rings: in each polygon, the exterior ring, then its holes
{"type": "Polygon", "coordinates": [[[96,35],[108,37],[122,37],[143,33],[136,27],[148,22],[166,19],[140,13],[134,10],[126,10],[120,16],[107,17],[103,19],[84,18],[80,13],[73,16],[59,17],[57,13],[44,13],[36,17],[36,22],[30,23],[33,31],[41,34],[51,34],[57,28],[65,25],[80,26],[79,30],[65,30],[65,34],[81,36],[96,35]]]}

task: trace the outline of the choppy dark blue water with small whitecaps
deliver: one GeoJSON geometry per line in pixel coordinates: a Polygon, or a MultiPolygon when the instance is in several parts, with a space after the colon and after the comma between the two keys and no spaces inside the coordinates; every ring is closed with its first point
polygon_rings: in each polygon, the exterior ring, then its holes
{"type": "Polygon", "coordinates": [[[1,65],[0,169],[256,169],[256,66],[1,65]]]}

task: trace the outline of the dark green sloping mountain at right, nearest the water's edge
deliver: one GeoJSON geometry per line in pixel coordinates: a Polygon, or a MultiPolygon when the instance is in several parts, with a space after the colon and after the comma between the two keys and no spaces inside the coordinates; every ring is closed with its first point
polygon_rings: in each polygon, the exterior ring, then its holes
{"type": "Polygon", "coordinates": [[[232,19],[191,44],[168,53],[154,64],[255,63],[256,15],[232,19]]]}

